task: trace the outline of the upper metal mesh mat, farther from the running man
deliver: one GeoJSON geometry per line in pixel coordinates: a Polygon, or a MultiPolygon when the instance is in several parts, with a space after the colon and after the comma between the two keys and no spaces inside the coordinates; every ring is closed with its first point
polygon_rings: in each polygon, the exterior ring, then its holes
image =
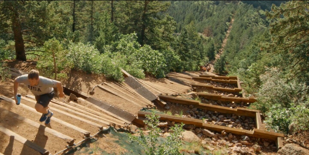
{"type": "Polygon", "coordinates": [[[138,94],[141,94],[144,98],[149,101],[157,99],[155,94],[152,94],[142,84],[140,84],[134,77],[125,77],[125,83],[132,87],[138,94]]]}

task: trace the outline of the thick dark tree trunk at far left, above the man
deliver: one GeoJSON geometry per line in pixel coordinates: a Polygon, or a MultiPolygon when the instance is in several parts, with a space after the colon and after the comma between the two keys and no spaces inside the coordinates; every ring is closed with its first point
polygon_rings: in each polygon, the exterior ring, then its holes
{"type": "Polygon", "coordinates": [[[12,16],[12,29],[15,40],[16,60],[27,61],[25,53],[25,45],[23,42],[23,35],[21,32],[21,25],[17,11],[15,11],[14,15],[12,16]]]}

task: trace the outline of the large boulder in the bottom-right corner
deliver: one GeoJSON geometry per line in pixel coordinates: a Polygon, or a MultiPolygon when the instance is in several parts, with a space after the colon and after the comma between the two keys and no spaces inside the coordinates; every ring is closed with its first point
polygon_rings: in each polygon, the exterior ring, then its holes
{"type": "Polygon", "coordinates": [[[281,155],[309,155],[309,150],[291,143],[284,145],[277,153],[281,155]]]}

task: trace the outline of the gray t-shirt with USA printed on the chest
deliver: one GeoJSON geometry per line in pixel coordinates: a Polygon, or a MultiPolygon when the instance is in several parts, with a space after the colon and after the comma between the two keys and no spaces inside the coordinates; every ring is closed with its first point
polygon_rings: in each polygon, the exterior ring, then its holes
{"type": "Polygon", "coordinates": [[[53,91],[53,87],[56,87],[57,84],[57,81],[55,80],[39,76],[38,85],[30,86],[28,74],[17,77],[16,81],[18,83],[26,84],[35,96],[51,93],[53,91]]]}

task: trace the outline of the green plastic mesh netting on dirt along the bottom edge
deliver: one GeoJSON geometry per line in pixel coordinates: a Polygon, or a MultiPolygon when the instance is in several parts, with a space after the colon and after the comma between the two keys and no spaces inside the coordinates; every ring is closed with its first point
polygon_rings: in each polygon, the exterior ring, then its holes
{"type": "MultiPolygon", "coordinates": [[[[121,148],[125,149],[125,153],[121,155],[143,155],[143,147],[138,145],[138,143],[133,142],[131,143],[129,141],[129,136],[128,133],[126,132],[116,132],[113,127],[110,127],[104,131],[102,131],[104,134],[109,134],[108,136],[112,137],[112,142],[118,144],[121,148]]],[[[104,137],[103,137],[104,138],[104,137]]],[[[165,141],[165,138],[159,137],[158,138],[158,143],[163,144],[165,141]]],[[[71,149],[70,151],[64,153],[64,155],[89,155],[89,154],[94,154],[94,155],[116,155],[116,153],[108,153],[104,151],[103,149],[96,147],[99,145],[99,142],[95,138],[91,138],[85,143],[80,144],[79,146],[75,147],[74,149],[71,149]],[[89,146],[89,143],[91,143],[92,146],[89,146]],[[95,146],[95,147],[93,147],[95,146]]],[[[184,142],[183,146],[189,145],[189,143],[184,142]]],[[[112,147],[112,146],[111,146],[112,147]]],[[[199,154],[205,154],[207,155],[208,153],[203,153],[206,152],[205,149],[201,148],[199,154]]],[[[185,155],[195,155],[195,153],[184,153],[185,155]]],[[[211,154],[209,154],[211,155],[211,154]]]]}

